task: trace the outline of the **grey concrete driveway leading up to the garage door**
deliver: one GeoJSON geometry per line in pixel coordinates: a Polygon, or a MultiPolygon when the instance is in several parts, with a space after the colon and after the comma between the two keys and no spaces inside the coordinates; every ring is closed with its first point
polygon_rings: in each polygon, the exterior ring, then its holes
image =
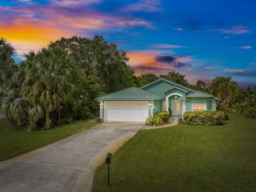
{"type": "Polygon", "coordinates": [[[93,173],[141,123],[104,122],[27,154],[0,162],[1,191],[90,191],[93,173]]]}

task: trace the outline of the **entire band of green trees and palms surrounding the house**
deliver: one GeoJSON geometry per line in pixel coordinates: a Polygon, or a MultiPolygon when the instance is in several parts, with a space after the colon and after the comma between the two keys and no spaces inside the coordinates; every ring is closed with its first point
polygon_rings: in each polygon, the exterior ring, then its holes
{"type": "Polygon", "coordinates": [[[219,109],[234,103],[256,104],[256,89],[239,89],[231,77],[216,77],[210,83],[199,80],[196,85],[177,71],[137,77],[127,65],[126,52],[102,36],[61,38],[27,53],[20,65],[15,65],[14,54],[14,47],[0,38],[0,110],[14,130],[50,129],[72,119],[96,117],[99,102],[95,98],[158,78],[221,98],[219,109]]]}

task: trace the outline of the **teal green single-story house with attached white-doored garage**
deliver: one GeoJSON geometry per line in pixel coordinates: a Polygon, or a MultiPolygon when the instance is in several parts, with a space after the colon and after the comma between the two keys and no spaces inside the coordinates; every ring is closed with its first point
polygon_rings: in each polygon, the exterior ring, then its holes
{"type": "Polygon", "coordinates": [[[172,110],[172,116],[185,111],[216,110],[213,95],[159,78],[140,88],[130,87],[96,98],[102,121],[145,122],[157,112],[172,110]]]}

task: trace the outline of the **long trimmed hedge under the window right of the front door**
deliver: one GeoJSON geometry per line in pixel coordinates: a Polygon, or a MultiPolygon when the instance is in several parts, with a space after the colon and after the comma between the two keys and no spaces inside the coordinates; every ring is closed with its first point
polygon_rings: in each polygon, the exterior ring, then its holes
{"type": "Polygon", "coordinates": [[[183,121],[189,125],[223,125],[227,119],[223,111],[188,111],[183,114],[183,121]]]}

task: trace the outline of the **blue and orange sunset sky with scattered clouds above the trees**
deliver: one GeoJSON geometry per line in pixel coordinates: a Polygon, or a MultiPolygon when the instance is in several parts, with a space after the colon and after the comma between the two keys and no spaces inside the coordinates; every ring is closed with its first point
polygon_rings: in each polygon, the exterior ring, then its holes
{"type": "Polygon", "coordinates": [[[135,74],[178,71],[189,83],[231,76],[256,86],[256,1],[0,0],[0,36],[23,53],[60,37],[102,35],[135,74]]]}

